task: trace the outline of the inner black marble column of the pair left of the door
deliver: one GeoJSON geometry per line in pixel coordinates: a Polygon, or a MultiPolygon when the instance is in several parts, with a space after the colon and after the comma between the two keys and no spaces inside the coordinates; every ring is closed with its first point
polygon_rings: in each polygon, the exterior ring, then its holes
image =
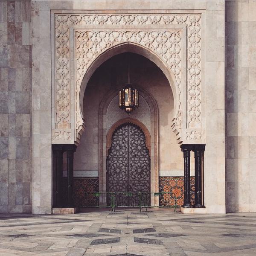
{"type": "Polygon", "coordinates": [[[73,199],[73,173],[74,173],[74,152],[76,145],[65,145],[67,151],[67,207],[74,207],[73,199]]]}

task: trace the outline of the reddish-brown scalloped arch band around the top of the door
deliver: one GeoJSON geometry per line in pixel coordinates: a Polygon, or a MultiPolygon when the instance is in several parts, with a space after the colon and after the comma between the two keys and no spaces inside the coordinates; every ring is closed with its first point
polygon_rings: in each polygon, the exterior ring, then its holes
{"type": "Polygon", "coordinates": [[[107,139],[106,139],[107,156],[108,156],[108,151],[111,148],[113,133],[116,131],[116,129],[118,129],[123,124],[137,125],[143,131],[143,133],[145,135],[146,147],[148,148],[148,152],[149,152],[149,155],[150,155],[151,140],[150,140],[150,132],[148,131],[148,128],[146,128],[146,126],[142,122],[140,122],[138,119],[131,118],[131,117],[126,117],[126,118],[119,119],[108,130],[107,139]]]}

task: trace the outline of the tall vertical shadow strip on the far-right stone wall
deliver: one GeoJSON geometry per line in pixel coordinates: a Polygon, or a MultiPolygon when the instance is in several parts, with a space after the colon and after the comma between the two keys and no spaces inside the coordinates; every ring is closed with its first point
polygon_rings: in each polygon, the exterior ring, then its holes
{"type": "MultiPolygon", "coordinates": [[[[225,1],[225,180],[226,211],[238,212],[239,208],[239,4],[241,1],[225,1]],[[230,21],[232,20],[232,21],[230,21]]],[[[241,10],[241,9],[240,9],[241,10]]],[[[241,23],[241,22],[240,22],[241,23]]],[[[240,44],[240,45],[239,45],[240,44]]],[[[240,57],[241,58],[241,57],[240,57]]],[[[240,137],[240,138],[239,138],[240,137]]],[[[241,166],[240,166],[241,168],[241,166]]],[[[240,170],[241,171],[241,170],[240,170]]],[[[241,196],[241,195],[240,195],[241,196]]]]}

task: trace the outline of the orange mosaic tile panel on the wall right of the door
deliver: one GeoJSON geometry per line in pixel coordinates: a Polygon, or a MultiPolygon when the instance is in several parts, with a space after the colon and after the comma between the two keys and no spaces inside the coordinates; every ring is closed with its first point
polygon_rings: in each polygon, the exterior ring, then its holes
{"type": "MultiPolygon", "coordinates": [[[[160,177],[159,192],[172,192],[177,199],[178,206],[184,203],[184,178],[183,177],[160,177]]],[[[195,204],[195,177],[190,177],[190,204],[195,204]]],[[[159,195],[159,206],[168,207],[175,205],[172,194],[159,195]]]]}

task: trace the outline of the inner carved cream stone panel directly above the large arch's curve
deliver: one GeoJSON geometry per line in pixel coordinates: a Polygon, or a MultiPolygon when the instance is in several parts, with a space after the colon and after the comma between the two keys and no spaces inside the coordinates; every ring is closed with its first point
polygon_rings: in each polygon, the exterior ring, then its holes
{"type": "MultiPolygon", "coordinates": [[[[147,47],[160,56],[175,74],[181,92],[181,30],[77,30],[76,35],[76,112],[79,109],[79,91],[84,73],[92,62],[106,49],[124,42],[147,47]]],[[[181,99],[179,98],[179,104],[181,99]]],[[[76,119],[76,129],[83,121],[76,119]]],[[[180,127],[181,121],[177,121],[180,127]]]]}

